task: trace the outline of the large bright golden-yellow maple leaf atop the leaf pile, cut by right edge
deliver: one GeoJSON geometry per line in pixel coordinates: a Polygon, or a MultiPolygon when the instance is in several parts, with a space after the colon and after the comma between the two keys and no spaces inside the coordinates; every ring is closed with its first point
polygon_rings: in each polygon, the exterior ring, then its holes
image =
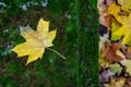
{"type": "Polygon", "coordinates": [[[121,27],[112,33],[112,36],[123,36],[122,45],[127,45],[131,41],[131,14],[129,16],[119,15],[120,7],[116,3],[108,8],[108,13],[112,14],[116,20],[121,23],[121,27]]]}

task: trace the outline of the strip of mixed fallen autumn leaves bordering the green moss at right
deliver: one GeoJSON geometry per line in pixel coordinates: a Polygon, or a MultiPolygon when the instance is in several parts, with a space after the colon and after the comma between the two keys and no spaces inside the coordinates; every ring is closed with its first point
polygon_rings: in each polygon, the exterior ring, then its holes
{"type": "Polygon", "coordinates": [[[131,87],[131,0],[98,0],[102,87],[131,87]]]}

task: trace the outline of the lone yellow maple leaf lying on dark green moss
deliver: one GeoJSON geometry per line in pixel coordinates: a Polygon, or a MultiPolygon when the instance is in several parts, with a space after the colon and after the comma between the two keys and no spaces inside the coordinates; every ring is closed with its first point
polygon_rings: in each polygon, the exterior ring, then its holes
{"type": "Polygon", "coordinates": [[[20,27],[20,29],[26,41],[15,46],[12,50],[17,53],[17,57],[28,55],[26,65],[38,58],[41,59],[45,48],[53,46],[52,40],[57,30],[49,32],[49,22],[43,18],[38,22],[37,30],[29,26],[20,27]]]}

